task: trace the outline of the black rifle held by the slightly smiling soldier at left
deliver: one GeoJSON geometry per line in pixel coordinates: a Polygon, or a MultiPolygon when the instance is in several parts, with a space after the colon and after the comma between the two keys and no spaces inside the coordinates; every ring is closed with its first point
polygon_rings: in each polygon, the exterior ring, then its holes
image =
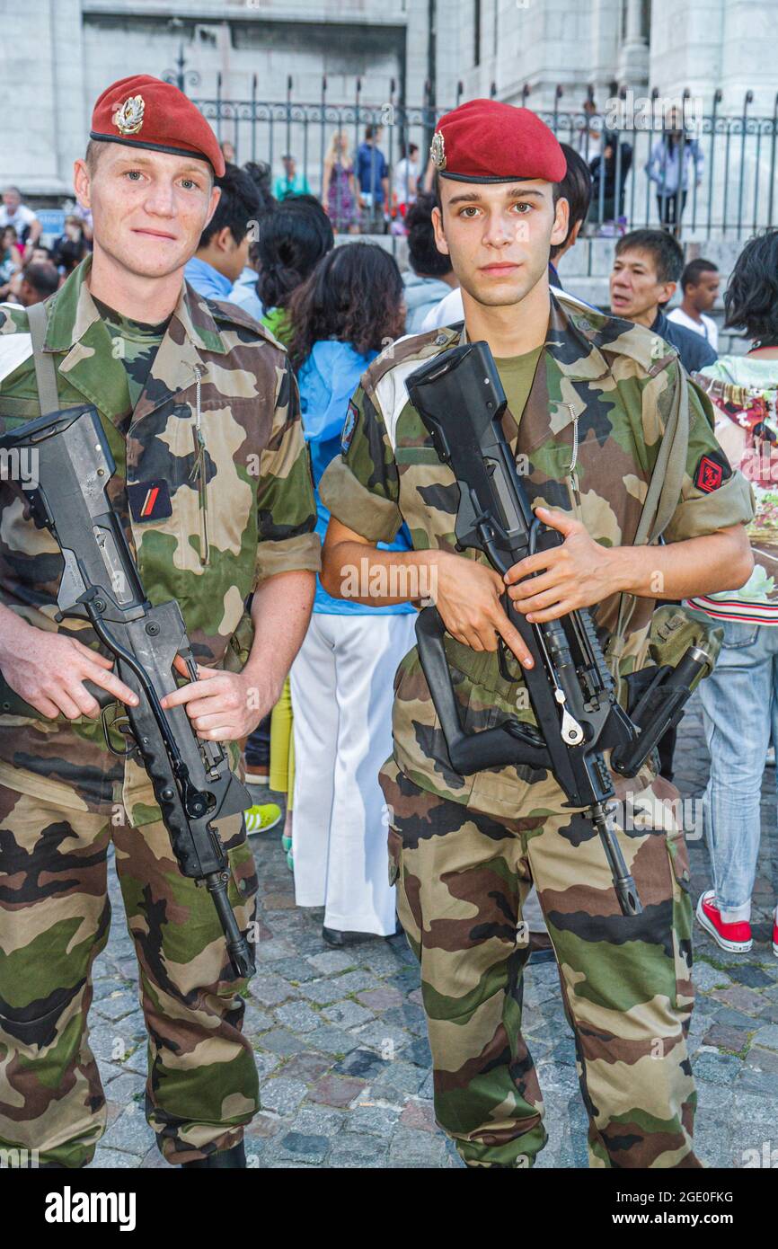
{"type": "MultiPolygon", "coordinates": [[[[162,821],[184,876],[205,883],[239,975],[254,972],[254,958],[227,897],[230,863],[217,824],[251,806],[247,789],[230,769],[217,742],[195,734],[185,707],[165,711],[161,699],[177,688],[176,654],[192,681],[192,657],[181,610],[175,601],[152,607],[141,585],[121,522],[107,497],[114,457],[94,407],[74,407],[27,421],[0,437],[5,451],[29,451],[31,485],[22,486],[31,516],[60,545],[65,567],[57,595],[57,621],[86,618],[115,656],[117,676],[139,697],[136,707],[112,721],[127,739],[125,754],[140,756],[154,783],[162,821]],[[129,727],[129,731],[127,731],[129,727]]],[[[102,706],[106,744],[115,754],[106,712],[116,699],[85,682],[102,706]]],[[[40,712],[4,681],[0,711],[40,712]]]]}

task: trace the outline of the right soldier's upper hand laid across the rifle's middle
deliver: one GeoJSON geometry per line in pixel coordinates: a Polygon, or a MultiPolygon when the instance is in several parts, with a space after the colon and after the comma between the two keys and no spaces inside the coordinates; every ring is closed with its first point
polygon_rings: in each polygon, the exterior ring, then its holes
{"type": "Polygon", "coordinates": [[[513,606],[528,621],[558,620],[602,602],[619,588],[612,552],[594,542],[581,521],[548,507],[537,507],[534,513],[543,525],[558,530],[564,542],[519,560],[505,575],[513,606]]]}

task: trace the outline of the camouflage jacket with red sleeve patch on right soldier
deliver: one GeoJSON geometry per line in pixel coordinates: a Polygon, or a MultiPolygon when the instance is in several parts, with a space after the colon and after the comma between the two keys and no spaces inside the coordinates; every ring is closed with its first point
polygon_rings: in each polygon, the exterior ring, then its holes
{"type": "MultiPolygon", "coordinates": [[[[411,406],[405,380],[420,362],[463,341],[461,326],[401,340],[362,377],[343,453],[328,466],[320,493],[337,520],[371,541],[391,540],[405,521],[416,550],[455,550],[458,487],[411,406]]],[[[631,545],[681,367],[674,348],[648,330],[567,296],[552,297],[546,345],[524,411],[506,411],[503,417],[511,447],[524,457],[522,473],[532,506],[573,512],[604,546],[631,545]]],[[[668,542],[712,533],[752,515],[749,487],[739,473],[716,492],[694,485],[699,461],[717,450],[717,442],[707,397],[687,385],[688,457],[678,506],[664,531],[668,542]]],[[[473,551],[463,557],[487,562],[473,551]]],[[[622,672],[631,671],[646,648],[653,606],[651,600],[637,600],[622,672]]],[[[614,596],[598,605],[594,621],[613,629],[617,612],[614,596]]],[[[503,681],[496,654],[476,653],[451,637],[446,649],[466,729],[490,728],[508,714],[533,721],[527,699],[519,697],[523,682],[503,681]]],[[[529,786],[542,781],[546,806],[557,808],[562,794],[553,778],[523,766],[475,777],[451,772],[416,649],[401,663],[395,689],[395,759],[422,788],[480,811],[515,816],[526,806],[529,786]]],[[[533,803],[538,793],[533,788],[533,803]]]]}

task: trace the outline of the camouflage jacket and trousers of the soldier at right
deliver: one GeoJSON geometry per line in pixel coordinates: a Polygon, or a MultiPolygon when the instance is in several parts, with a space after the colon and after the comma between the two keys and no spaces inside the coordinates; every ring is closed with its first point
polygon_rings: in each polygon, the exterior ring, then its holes
{"type": "MultiPolygon", "coordinates": [[[[343,455],[328,467],[321,497],[371,541],[390,540],[405,521],[416,550],[455,550],[458,488],[408,402],[405,378],[461,341],[460,327],[402,340],[362,378],[343,455]]],[[[532,506],[573,512],[604,546],[629,545],[679,367],[676,352],[647,330],[552,299],[524,411],[503,418],[511,446],[526,457],[532,506]]],[[[717,445],[707,400],[691,386],[689,408],[686,473],[667,541],[751,516],[739,475],[714,493],[694,486],[698,461],[717,445]]],[[[486,562],[473,551],[465,558],[486,562]]],[[[598,605],[597,623],[612,629],[617,607],[616,598],[598,605]]],[[[638,600],[622,672],[642,664],[651,615],[652,603],[638,600]]],[[[523,683],[502,679],[496,654],[448,636],[446,649],[466,729],[490,728],[508,714],[533,721],[518,697],[523,683]]],[[[381,773],[390,874],[421,960],[438,1123],[476,1167],[528,1165],[544,1143],[541,1094],[521,1034],[522,903],[534,882],[576,1034],[591,1164],[699,1165],[686,1050],[689,872],[683,832],[661,801],[677,791],[649,768],[628,786],[617,783],[634,811],[618,841],[644,906],[639,918],[624,918],[599,839],[583,816],[564,808],[548,772],[453,773],[416,649],[400,666],[395,689],[395,752],[381,773]]]]}

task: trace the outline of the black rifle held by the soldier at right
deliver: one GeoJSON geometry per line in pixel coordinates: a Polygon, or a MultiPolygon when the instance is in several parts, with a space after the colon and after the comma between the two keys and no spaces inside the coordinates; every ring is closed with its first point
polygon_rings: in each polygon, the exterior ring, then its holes
{"type": "MultiPolygon", "coordinates": [[[[533,516],[502,432],[506,396],[487,343],[442,352],[415,370],[406,385],[435,450],[460,487],[457,548],[483,551],[497,572],[505,573],[536,551],[561,545],[561,533],[533,516]]],[[[466,776],[519,763],[551,769],[567,806],[587,808],[599,833],[622,913],[639,914],[634,881],[607,821],[606,803],[614,789],[603,751],[612,749],[616,771],[634,776],[666,729],[681,719],[691,686],[703,668],[713,666],[712,659],[699,647],[689,647],[676,668],[633,673],[627,682],[634,706],[627,714],[616,698],[588,611],[529,623],[507,595],[502,602],[534,659],[521,674],[538,728],[511,717],[493,728],[466,733],[448,669],[443,621],[435,607],[426,607],[416,622],[418,657],[452,771],[466,776]]],[[[498,643],[500,672],[506,681],[516,681],[502,638],[498,643]]]]}

